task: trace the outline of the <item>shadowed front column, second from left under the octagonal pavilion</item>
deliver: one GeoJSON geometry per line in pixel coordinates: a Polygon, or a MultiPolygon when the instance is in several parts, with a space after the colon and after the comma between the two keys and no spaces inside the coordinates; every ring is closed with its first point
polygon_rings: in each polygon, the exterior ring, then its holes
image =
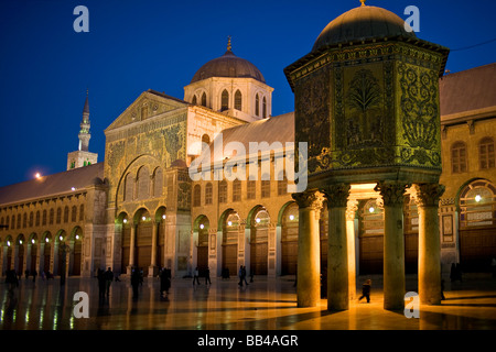
{"type": "Polygon", "coordinates": [[[351,186],[330,185],[323,189],[327,199],[327,310],[347,310],[349,307],[348,245],[346,235],[346,206],[351,186]]]}

